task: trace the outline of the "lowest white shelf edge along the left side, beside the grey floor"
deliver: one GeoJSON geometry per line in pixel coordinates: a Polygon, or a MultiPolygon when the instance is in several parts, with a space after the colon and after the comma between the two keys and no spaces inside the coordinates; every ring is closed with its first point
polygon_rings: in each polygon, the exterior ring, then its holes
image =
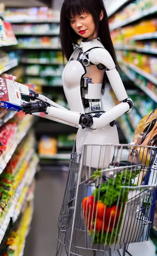
{"type": "MultiPolygon", "coordinates": [[[[28,159],[31,158],[32,154],[33,154],[33,151],[31,150],[29,152],[28,159]]],[[[2,242],[2,239],[3,239],[3,237],[4,237],[5,233],[6,233],[6,229],[7,229],[8,225],[9,225],[10,218],[13,217],[13,214],[14,214],[14,211],[15,211],[18,199],[19,199],[19,197],[22,194],[22,191],[23,191],[23,189],[24,189],[24,187],[26,185],[27,179],[28,179],[28,172],[26,170],[25,171],[25,175],[24,175],[21,183],[18,185],[18,187],[17,187],[17,189],[15,191],[15,194],[14,194],[13,198],[11,199],[12,200],[11,206],[10,206],[10,208],[9,208],[7,214],[6,214],[6,217],[5,217],[5,219],[4,219],[3,223],[2,223],[2,226],[0,227],[0,243],[2,242]]]]}

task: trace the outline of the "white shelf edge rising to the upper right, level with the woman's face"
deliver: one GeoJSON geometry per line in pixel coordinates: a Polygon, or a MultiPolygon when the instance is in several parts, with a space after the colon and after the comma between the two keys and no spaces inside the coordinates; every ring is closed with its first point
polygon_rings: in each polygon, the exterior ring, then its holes
{"type": "Polygon", "coordinates": [[[136,13],[136,14],[132,15],[131,17],[129,17],[128,19],[125,19],[122,22],[119,22],[119,23],[115,22],[114,24],[112,24],[110,26],[110,30],[112,31],[114,29],[117,29],[117,28],[120,28],[122,26],[128,25],[129,23],[137,21],[137,20],[139,20],[141,18],[144,18],[148,15],[155,14],[156,12],[157,12],[157,6],[153,6],[148,10],[143,10],[139,13],[136,13]]]}

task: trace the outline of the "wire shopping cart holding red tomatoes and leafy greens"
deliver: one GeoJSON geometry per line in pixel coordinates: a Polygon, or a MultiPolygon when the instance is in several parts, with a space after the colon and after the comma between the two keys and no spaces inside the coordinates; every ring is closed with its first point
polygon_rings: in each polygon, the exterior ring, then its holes
{"type": "Polygon", "coordinates": [[[156,188],[157,147],[84,144],[71,154],[56,255],[132,255],[129,243],[149,239],[156,188]]]}

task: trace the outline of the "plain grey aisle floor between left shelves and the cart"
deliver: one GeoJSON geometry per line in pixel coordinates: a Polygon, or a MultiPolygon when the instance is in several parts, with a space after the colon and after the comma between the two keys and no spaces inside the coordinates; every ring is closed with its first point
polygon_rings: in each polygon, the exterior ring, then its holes
{"type": "Polygon", "coordinates": [[[67,172],[42,171],[35,190],[34,214],[24,256],[56,255],[57,224],[67,172]]]}

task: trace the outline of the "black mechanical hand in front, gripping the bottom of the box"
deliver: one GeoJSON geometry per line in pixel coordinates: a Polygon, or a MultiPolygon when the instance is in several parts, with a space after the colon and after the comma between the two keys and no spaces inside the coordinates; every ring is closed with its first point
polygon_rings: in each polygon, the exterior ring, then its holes
{"type": "Polygon", "coordinates": [[[48,106],[50,106],[50,105],[43,101],[37,101],[37,102],[32,102],[32,103],[29,102],[29,103],[22,105],[22,107],[23,107],[22,111],[25,114],[33,114],[36,112],[45,112],[45,114],[47,114],[46,110],[47,110],[48,106]]]}

